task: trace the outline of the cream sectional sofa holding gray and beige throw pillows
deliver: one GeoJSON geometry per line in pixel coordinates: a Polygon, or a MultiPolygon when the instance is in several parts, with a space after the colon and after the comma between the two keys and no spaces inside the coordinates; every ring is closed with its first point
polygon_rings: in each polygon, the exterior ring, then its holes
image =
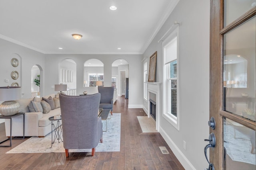
{"type": "MultiPolygon", "coordinates": [[[[49,95],[52,98],[55,97],[55,94],[49,95]]],[[[44,96],[44,98],[48,98],[49,96],[44,96]]],[[[60,115],[60,107],[56,109],[50,110],[49,113],[42,112],[30,112],[28,105],[30,104],[30,99],[20,99],[16,100],[20,104],[19,112],[24,112],[25,115],[25,136],[38,136],[44,137],[48,133],[52,131],[52,121],[49,120],[49,117],[54,115],[60,115]]],[[[42,100],[42,98],[41,98],[42,100]]],[[[61,120],[60,120],[61,121],[61,120]]],[[[57,124],[57,121],[54,121],[54,124],[57,124]]],[[[10,119],[5,119],[5,129],[6,136],[10,136],[10,119]]],[[[14,117],[12,119],[12,136],[19,137],[23,136],[23,115],[14,117]]]]}

